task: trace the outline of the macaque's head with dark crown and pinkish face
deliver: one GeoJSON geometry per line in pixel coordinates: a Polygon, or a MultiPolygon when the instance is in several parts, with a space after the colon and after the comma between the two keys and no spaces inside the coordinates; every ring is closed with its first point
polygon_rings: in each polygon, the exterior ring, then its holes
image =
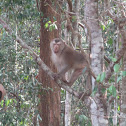
{"type": "Polygon", "coordinates": [[[51,41],[50,48],[55,54],[61,53],[65,48],[65,42],[60,38],[55,38],[51,41]]]}

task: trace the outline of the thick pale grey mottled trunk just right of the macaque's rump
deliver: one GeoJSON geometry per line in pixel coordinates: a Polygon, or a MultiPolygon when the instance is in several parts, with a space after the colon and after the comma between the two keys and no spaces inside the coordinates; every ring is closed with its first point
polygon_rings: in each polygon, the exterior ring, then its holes
{"type": "MultiPolygon", "coordinates": [[[[100,74],[103,64],[103,38],[102,31],[98,22],[98,1],[87,0],[85,6],[85,17],[91,30],[91,67],[93,72],[100,74]]],[[[95,86],[95,80],[92,78],[92,87],[95,86]]],[[[98,85],[100,86],[100,85],[98,85]]],[[[100,90],[99,90],[100,91],[100,90]]],[[[106,108],[104,107],[102,95],[100,92],[95,95],[95,104],[91,104],[92,126],[107,126],[108,120],[104,118],[106,108]]]]}

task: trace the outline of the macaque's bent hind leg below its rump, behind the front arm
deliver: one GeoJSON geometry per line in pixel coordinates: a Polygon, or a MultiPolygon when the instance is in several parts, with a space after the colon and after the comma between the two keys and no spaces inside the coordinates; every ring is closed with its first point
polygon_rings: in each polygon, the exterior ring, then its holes
{"type": "Polygon", "coordinates": [[[82,74],[82,70],[83,69],[76,69],[73,71],[71,78],[70,78],[70,81],[69,81],[69,86],[72,86],[74,81],[76,81],[77,78],[82,74]]]}

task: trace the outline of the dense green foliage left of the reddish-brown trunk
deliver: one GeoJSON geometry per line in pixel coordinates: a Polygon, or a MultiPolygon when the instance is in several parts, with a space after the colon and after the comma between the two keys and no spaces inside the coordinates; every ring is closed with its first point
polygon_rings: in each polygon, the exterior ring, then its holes
{"type": "MultiPolygon", "coordinates": [[[[2,0],[0,14],[16,34],[39,53],[39,13],[35,0],[2,0]],[[37,20],[36,20],[37,19],[37,20]]],[[[0,26],[0,83],[7,96],[0,104],[0,125],[33,125],[37,115],[40,84],[35,79],[38,66],[28,52],[24,51],[0,26]]]]}

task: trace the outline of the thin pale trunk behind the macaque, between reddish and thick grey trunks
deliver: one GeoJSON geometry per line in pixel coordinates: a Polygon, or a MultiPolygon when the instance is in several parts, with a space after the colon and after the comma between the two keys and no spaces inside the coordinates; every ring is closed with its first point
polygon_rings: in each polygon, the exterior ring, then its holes
{"type": "MultiPolygon", "coordinates": [[[[72,1],[69,1],[69,10],[68,11],[72,11],[72,1]],[[71,6],[70,6],[71,5],[71,6]]],[[[80,0],[75,0],[74,2],[74,11],[76,13],[76,20],[74,22],[72,22],[73,25],[73,29],[75,32],[78,32],[78,16],[79,16],[79,3],[80,0]]],[[[67,6],[68,9],[68,6],[67,6]]],[[[66,29],[65,32],[65,39],[68,40],[69,38],[67,37],[69,34],[69,32],[66,29]]],[[[72,40],[72,44],[74,45],[74,47],[76,48],[76,45],[78,44],[78,37],[77,35],[72,34],[71,36],[71,40],[72,40]]],[[[70,73],[67,74],[67,80],[69,80],[70,78],[70,73]]],[[[66,91],[66,99],[65,99],[65,126],[70,126],[71,124],[71,99],[72,99],[72,95],[66,91]]]]}

